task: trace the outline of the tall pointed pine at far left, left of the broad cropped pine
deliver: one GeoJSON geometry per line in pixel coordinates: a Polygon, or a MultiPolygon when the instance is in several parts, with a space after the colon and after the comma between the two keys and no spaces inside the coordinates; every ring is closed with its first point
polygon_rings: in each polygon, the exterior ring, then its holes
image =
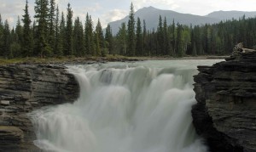
{"type": "Polygon", "coordinates": [[[22,42],[22,54],[24,57],[32,56],[32,31],[30,28],[31,20],[28,14],[28,5],[26,0],[26,6],[24,9],[25,14],[22,15],[23,24],[24,24],[24,31],[23,31],[23,40],[22,42]]]}

